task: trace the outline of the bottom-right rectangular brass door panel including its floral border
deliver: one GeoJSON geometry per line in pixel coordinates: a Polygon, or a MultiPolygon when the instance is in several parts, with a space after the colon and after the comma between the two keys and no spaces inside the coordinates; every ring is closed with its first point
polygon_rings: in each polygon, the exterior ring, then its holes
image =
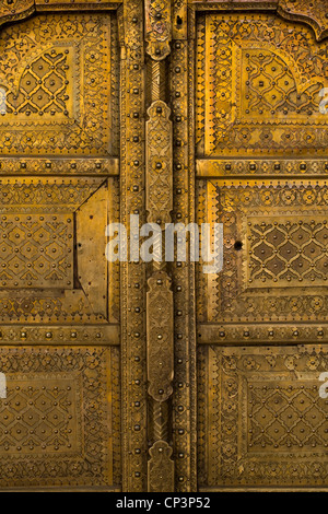
{"type": "Polygon", "coordinates": [[[199,350],[199,474],[210,487],[327,487],[326,347],[199,350]]]}

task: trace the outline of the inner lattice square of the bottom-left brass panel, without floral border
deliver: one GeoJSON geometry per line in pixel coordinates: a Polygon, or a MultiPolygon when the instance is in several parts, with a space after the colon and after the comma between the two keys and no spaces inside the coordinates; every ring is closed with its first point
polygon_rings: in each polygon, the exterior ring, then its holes
{"type": "Polygon", "coordinates": [[[0,446],[4,454],[58,455],[77,452],[78,443],[81,445],[74,376],[50,375],[46,386],[40,386],[42,378],[37,374],[28,374],[26,379],[7,376],[8,399],[0,400],[0,446]]]}

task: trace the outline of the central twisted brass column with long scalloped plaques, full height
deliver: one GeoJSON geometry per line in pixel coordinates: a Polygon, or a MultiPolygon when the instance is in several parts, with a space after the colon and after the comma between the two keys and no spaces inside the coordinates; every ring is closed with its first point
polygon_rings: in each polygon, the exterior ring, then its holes
{"type": "MultiPolygon", "coordinates": [[[[145,0],[145,39],[150,56],[150,107],[147,122],[148,222],[164,230],[173,209],[173,142],[166,100],[166,58],[171,52],[171,0],[145,0]]],[[[164,248],[165,249],[165,248],[164,248]]],[[[171,398],[174,378],[174,306],[171,278],[164,262],[149,270],[147,293],[147,358],[149,412],[149,492],[174,491],[171,442],[171,398]]]]}

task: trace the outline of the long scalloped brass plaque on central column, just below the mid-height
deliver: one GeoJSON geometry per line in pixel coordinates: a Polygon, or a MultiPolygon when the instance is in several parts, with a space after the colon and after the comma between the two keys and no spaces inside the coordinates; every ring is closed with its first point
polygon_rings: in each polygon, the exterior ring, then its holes
{"type": "Polygon", "coordinates": [[[173,292],[164,271],[149,279],[148,312],[148,379],[149,394],[155,401],[166,401],[173,393],[174,329],[173,292]]]}

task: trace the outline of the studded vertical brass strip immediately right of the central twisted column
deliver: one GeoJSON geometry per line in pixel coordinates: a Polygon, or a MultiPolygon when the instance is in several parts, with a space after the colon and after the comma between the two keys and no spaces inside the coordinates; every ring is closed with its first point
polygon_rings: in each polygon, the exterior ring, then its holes
{"type": "MultiPolygon", "coordinates": [[[[195,11],[173,0],[169,92],[174,120],[174,222],[195,221],[194,38],[195,11]],[[188,11],[188,16],[187,16],[188,11]]],[[[176,262],[175,383],[173,399],[176,489],[197,490],[195,264],[176,262]]]]}

